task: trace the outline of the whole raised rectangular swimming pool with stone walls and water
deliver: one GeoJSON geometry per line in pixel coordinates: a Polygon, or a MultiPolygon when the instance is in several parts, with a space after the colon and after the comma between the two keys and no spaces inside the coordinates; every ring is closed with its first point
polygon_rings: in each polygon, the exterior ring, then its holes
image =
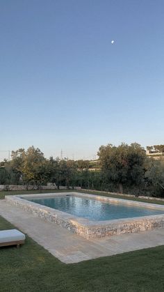
{"type": "Polygon", "coordinates": [[[164,206],[154,203],[79,192],[12,195],[6,201],[90,240],[164,229],[164,206]]]}

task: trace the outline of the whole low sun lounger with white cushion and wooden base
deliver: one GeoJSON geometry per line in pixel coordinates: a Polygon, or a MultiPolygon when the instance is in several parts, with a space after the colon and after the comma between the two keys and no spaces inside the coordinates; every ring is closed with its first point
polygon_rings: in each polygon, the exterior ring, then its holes
{"type": "Polygon", "coordinates": [[[6,245],[19,245],[24,244],[25,235],[17,229],[1,230],[0,231],[0,247],[6,245]]]}

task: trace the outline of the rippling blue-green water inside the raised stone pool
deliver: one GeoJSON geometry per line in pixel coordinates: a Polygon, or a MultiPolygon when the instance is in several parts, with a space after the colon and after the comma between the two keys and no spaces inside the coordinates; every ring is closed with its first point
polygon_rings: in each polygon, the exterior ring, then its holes
{"type": "Polygon", "coordinates": [[[54,198],[28,199],[34,203],[48,206],[65,213],[84,217],[93,221],[114,220],[163,214],[163,210],[108,203],[86,197],[58,196],[54,198]]]}

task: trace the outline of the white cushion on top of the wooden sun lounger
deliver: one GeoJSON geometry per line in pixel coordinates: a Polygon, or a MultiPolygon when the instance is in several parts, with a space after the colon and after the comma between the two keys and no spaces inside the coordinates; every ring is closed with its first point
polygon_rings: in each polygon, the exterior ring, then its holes
{"type": "Polygon", "coordinates": [[[25,240],[24,233],[17,229],[1,230],[0,243],[10,243],[12,241],[25,240]]]}

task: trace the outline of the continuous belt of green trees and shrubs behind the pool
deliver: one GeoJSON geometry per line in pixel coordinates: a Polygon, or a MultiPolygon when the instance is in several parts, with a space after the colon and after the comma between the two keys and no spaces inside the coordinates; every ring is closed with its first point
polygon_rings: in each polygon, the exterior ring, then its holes
{"type": "MultiPolygon", "coordinates": [[[[151,148],[151,146],[149,146],[151,148]]],[[[147,157],[140,144],[108,144],[99,148],[99,160],[60,160],[44,157],[34,146],[12,151],[0,163],[0,185],[47,183],[85,189],[149,194],[164,197],[164,160],[147,157]]]]}

